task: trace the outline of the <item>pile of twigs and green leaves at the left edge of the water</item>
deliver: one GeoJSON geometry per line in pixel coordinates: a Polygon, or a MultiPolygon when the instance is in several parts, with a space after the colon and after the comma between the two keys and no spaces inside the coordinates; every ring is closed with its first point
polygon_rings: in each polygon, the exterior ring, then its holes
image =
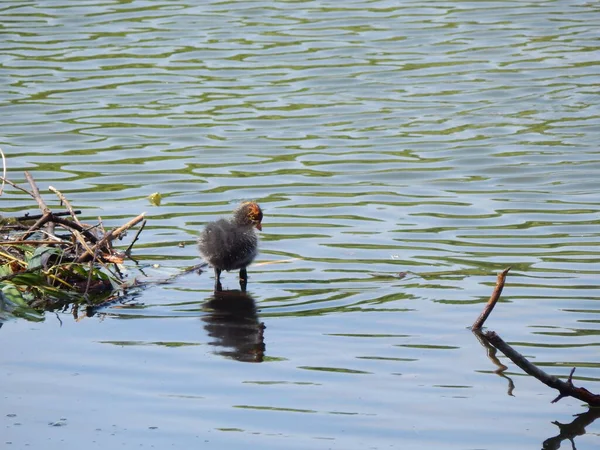
{"type": "Polygon", "coordinates": [[[6,182],[26,192],[36,202],[39,215],[2,219],[0,223],[0,309],[7,305],[53,309],[67,303],[96,304],[106,301],[124,286],[120,264],[129,255],[145,225],[140,214],[120,227],[106,231],[102,220],[86,224],[65,196],[52,186],[66,211],[53,212],[25,172],[30,190],[6,182]],[[113,241],[142,222],[126,251],[113,248],[113,241]]]}

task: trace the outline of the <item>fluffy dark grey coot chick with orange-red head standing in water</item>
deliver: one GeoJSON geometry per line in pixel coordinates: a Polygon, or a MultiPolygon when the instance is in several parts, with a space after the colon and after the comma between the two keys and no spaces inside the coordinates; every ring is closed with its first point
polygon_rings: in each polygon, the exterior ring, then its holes
{"type": "Polygon", "coordinates": [[[245,202],[233,211],[229,219],[219,219],[206,225],[198,247],[202,257],[215,269],[215,291],[221,290],[221,272],[240,270],[240,284],[245,290],[246,267],[258,253],[258,236],[262,230],[262,210],[257,203],[245,202]]]}

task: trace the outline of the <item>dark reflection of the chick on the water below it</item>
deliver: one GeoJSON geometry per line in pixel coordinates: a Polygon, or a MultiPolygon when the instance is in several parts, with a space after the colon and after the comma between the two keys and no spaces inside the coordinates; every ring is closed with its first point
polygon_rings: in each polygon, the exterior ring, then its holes
{"type": "Polygon", "coordinates": [[[202,317],[210,344],[224,347],[215,353],[242,362],[262,362],[265,325],[259,322],[254,299],[246,292],[215,291],[204,304],[202,317]]]}

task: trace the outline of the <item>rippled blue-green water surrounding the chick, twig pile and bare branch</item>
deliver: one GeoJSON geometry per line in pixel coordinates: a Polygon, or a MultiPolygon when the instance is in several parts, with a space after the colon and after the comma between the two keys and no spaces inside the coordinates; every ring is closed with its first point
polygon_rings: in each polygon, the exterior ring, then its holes
{"type": "Polygon", "coordinates": [[[0,11],[9,178],[106,226],[147,211],[131,276],[200,262],[198,231],[240,200],[265,210],[247,296],[189,273],[92,317],[5,322],[0,442],[558,448],[552,422],[586,408],[504,358],[494,373],[467,329],[506,266],[488,325],[600,391],[597,2],[0,11]]]}

